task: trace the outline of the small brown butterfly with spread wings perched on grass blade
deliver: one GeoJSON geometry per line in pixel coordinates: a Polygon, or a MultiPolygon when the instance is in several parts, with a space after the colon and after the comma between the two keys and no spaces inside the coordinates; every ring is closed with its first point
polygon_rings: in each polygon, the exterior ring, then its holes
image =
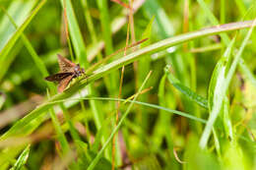
{"type": "Polygon", "coordinates": [[[72,79],[85,74],[85,70],[80,68],[79,64],[72,63],[65,57],[58,54],[58,62],[60,67],[60,73],[48,76],[45,78],[49,82],[57,82],[58,91],[62,92],[67,85],[72,81],[72,79]]]}

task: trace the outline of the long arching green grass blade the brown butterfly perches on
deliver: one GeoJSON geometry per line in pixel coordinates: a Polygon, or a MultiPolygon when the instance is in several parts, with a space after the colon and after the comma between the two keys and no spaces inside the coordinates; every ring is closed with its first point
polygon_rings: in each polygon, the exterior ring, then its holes
{"type": "MultiPolygon", "coordinates": [[[[234,30],[234,29],[240,29],[240,28],[248,28],[252,25],[252,22],[243,22],[243,23],[235,23],[235,24],[228,24],[228,25],[223,25],[221,27],[214,27],[214,28],[205,28],[202,30],[197,30],[194,32],[189,32],[189,33],[184,33],[181,35],[177,35],[174,37],[170,37],[167,39],[163,39],[157,43],[151,44],[147,47],[144,47],[142,49],[139,49],[121,59],[115,60],[101,68],[98,68],[95,72],[94,75],[91,77],[82,80],[76,85],[71,86],[69,89],[66,91],[56,94],[52,96],[48,102],[68,98],[72,96],[74,93],[78,92],[79,89],[83,88],[84,86],[96,81],[99,78],[102,78],[104,75],[107,75],[111,71],[114,71],[118,68],[121,68],[123,65],[130,64],[136,60],[139,60],[140,58],[143,57],[144,54],[147,53],[153,53],[155,51],[158,51],[160,49],[164,49],[169,46],[174,46],[177,44],[180,44],[185,41],[189,41],[195,38],[203,37],[206,35],[212,35],[212,34],[217,34],[223,31],[228,31],[228,30],[234,30]]],[[[30,114],[28,114],[26,117],[18,121],[9,131],[7,131],[0,139],[6,138],[12,134],[15,134],[16,131],[18,131],[21,127],[32,121],[32,119],[36,118],[37,116],[41,115],[44,111],[46,111],[51,104],[41,104],[39,105],[36,109],[34,109],[30,114]]]]}

